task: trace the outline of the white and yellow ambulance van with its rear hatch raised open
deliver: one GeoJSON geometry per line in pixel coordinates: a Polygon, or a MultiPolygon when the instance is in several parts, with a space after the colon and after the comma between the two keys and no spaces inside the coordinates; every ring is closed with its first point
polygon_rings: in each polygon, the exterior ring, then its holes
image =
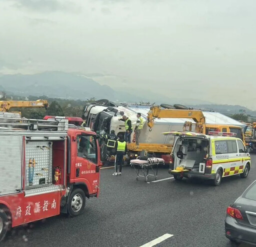
{"type": "Polygon", "coordinates": [[[176,180],[187,178],[212,179],[220,184],[222,177],[240,174],[247,177],[250,155],[235,133],[209,131],[208,135],[189,131],[170,131],[176,135],[172,148],[169,173],[176,180]]]}

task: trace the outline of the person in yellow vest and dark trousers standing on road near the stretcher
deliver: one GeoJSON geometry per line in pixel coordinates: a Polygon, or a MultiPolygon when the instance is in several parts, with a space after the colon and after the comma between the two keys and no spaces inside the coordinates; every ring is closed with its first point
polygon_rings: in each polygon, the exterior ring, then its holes
{"type": "Polygon", "coordinates": [[[126,151],[127,151],[126,141],[124,141],[123,136],[121,134],[119,134],[118,139],[116,141],[114,173],[112,174],[113,176],[121,175],[123,156],[125,155],[126,151]],[[117,166],[118,165],[119,165],[119,172],[117,173],[117,166]]]}

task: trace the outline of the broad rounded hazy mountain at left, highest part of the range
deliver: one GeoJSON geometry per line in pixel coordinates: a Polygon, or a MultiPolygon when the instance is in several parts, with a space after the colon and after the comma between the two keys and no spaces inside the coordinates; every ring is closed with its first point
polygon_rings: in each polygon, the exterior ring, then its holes
{"type": "Polygon", "coordinates": [[[43,72],[37,74],[14,74],[0,76],[0,86],[21,96],[48,95],[50,97],[87,98],[114,96],[114,91],[107,85],[78,75],[64,72],[43,72]]]}

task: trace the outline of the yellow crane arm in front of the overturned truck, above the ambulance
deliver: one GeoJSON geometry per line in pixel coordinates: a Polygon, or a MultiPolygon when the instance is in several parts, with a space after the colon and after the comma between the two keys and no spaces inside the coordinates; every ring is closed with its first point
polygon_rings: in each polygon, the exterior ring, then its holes
{"type": "Polygon", "coordinates": [[[161,117],[192,118],[197,123],[205,123],[205,116],[201,110],[161,109],[160,106],[152,106],[147,113],[147,126],[152,128],[154,118],[161,117]]]}

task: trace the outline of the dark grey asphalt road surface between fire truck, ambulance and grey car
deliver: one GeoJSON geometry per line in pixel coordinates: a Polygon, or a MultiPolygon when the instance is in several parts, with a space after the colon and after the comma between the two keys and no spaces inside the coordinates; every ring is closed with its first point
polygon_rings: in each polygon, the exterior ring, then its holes
{"type": "MultiPolygon", "coordinates": [[[[0,246],[141,246],[172,234],[157,247],[233,246],[224,235],[226,207],[256,177],[256,155],[246,179],[232,176],[218,187],[209,182],[136,180],[130,167],[121,176],[101,170],[100,196],[86,201],[82,215],[59,215],[16,227],[0,246]]],[[[158,179],[167,178],[160,168],[158,179]]],[[[240,244],[241,246],[249,246],[240,244]]]]}

